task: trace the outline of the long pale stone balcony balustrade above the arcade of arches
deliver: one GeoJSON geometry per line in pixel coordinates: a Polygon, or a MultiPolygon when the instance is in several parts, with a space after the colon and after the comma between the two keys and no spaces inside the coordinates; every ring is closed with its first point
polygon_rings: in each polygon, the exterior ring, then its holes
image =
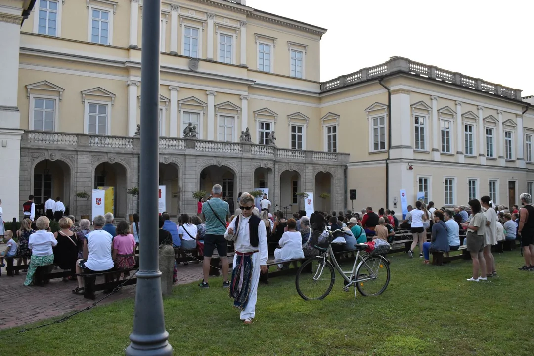
{"type": "MultiPolygon", "coordinates": [[[[62,149],[66,151],[100,151],[139,153],[139,137],[93,136],[82,133],[45,132],[26,130],[22,148],[62,149]]],[[[280,162],[347,164],[348,153],[301,151],[233,142],[160,137],[161,154],[191,154],[205,156],[243,157],[280,162]]]]}

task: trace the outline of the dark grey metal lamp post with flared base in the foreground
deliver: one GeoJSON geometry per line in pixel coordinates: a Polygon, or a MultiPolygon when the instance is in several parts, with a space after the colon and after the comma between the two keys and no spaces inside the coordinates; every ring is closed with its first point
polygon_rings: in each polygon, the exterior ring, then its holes
{"type": "Polygon", "coordinates": [[[143,49],[141,51],[141,127],[139,238],[141,254],[133,331],[127,356],[172,355],[165,330],[161,272],[158,267],[158,162],[159,162],[159,87],[160,87],[161,1],[143,4],[143,49]]]}

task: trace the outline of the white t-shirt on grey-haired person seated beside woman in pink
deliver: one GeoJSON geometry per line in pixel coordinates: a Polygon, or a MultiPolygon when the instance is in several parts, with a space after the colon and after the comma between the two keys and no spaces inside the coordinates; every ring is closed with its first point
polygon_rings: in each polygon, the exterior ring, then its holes
{"type": "Polygon", "coordinates": [[[85,235],[85,239],[87,240],[89,255],[84,266],[96,272],[113,268],[113,259],[111,259],[113,236],[107,231],[99,229],[85,235]]]}

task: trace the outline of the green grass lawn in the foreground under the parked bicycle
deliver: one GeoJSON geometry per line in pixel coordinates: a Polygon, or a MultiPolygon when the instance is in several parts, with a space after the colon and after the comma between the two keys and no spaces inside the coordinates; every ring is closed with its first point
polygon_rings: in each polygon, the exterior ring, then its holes
{"type": "MultiPolygon", "coordinates": [[[[248,327],[218,287],[221,278],[207,290],[175,287],[164,300],[170,343],[179,355],[534,354],[534,272],[517,271],[519,250],[496,255],[499,278],[488,283],[467,282],[464,260],[436,267],[405,254],[389,258],[391,281],[379,297],[354,299],[339,276],[331,294],[310,302],[297,295],[294,276],[260,284],[248,327]]],[[[132,314],[132,299],[97,307],[2,339],[0,355],[123,354],[132,314]]]]}

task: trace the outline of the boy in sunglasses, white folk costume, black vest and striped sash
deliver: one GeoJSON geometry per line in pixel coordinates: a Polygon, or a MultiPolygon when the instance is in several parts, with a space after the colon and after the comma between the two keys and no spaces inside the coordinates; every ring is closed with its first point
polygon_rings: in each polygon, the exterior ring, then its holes
{"type": "Polygon", "coordinates": [[[232,220],[225,237],[237,236],[230,296],[235,299],[234,306],[241,310],[241,320],[249,325],[255,316],[260,273],[268,271],[269,252],[265,223],[252,213],[254,197],[241,194],[239,205],[242,214],[232,220]]]}

